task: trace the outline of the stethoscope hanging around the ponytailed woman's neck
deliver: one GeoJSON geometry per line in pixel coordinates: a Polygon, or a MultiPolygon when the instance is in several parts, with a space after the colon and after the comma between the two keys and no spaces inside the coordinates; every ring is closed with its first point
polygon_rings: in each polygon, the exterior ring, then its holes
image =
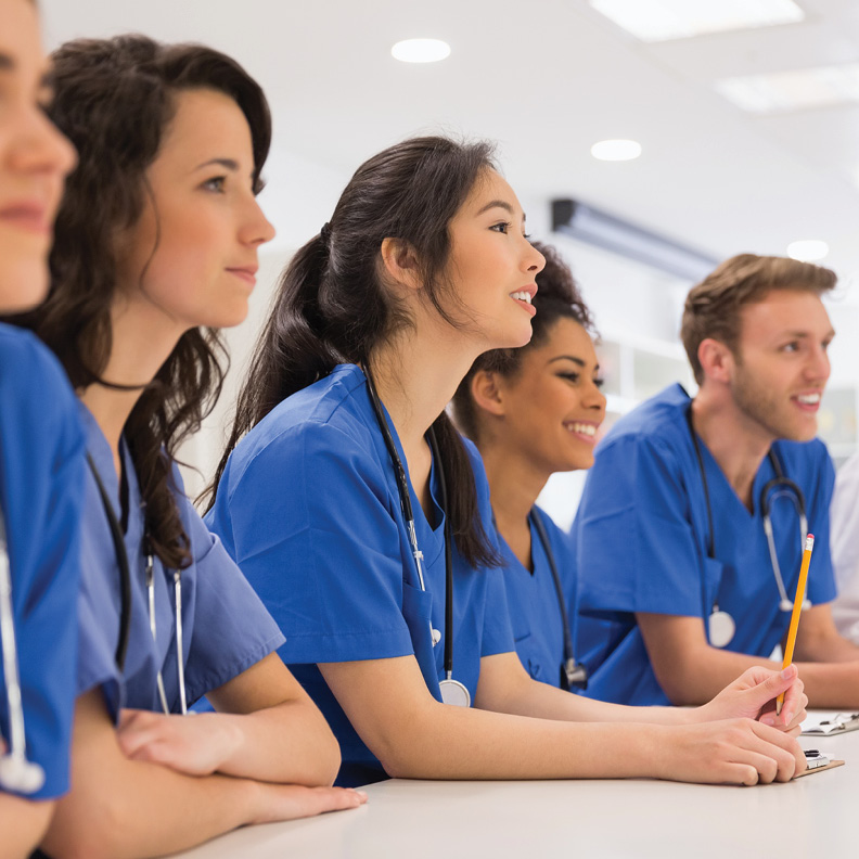
{"type": "MultiPolygon", "coordinates": [[[[397,493],[399,495],[402,516],[406,520],[406,530],[409,535],[409,544],[411,546],[412,556],[414,557],[414,565],[418,569],[418,581],[421,586],[421,590],[426,592],[426,582],[424,581],[423,575],[423,552],[418,547],[418,534],[414,528],[414,513],[412,512],[411,497],[409,495],[409,484],[406,479],[406,469],[402,467],[402,460],[399,458],[397,447],[394,444],[394,437],[390,435],[390,428],[382,411],[382,403],[379,399],[379,394],[376,394],[373,380],[370,376],[370,370],[368,367],[364,367],[363,370],[364,376],[367,377],[367,390],[370,394],[370,402],[372,403],[379,428],[382,431],[382,437],[385,440],[388,456],[394,464],[394,474],[397,479],[397,493]]],[[[438,493],[441,501],[440,507],[443,513],[445,513],[445,679],[439,681],[438,687],[441,691],[443,703],[459,707],[470,707],[471,693],[459,680],[453,679],[453,530],[450,524],[450,516],[447,515],[447,482],[445,480],[445,472],[441,467],[438,443],[432,426],[426,437],[433,452],[433,460],[436,463],[438,473],[438,493]]],[[[441,640],[441,633],[437,629],[434,629],[432,624],[430,626],[430,636],[433,641],[433,646],[435,648],[441,640]]]]}

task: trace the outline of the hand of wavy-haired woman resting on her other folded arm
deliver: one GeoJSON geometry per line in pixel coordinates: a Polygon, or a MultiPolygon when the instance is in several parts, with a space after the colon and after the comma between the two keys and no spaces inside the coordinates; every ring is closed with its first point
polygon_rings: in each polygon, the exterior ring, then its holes
{"type": "Polygon", "coordinates": [[[187,775],[210,775],[242,744],[235,720],[218,713],[189,716],[125,709],[116,731],[123,754],[187,775]]]}

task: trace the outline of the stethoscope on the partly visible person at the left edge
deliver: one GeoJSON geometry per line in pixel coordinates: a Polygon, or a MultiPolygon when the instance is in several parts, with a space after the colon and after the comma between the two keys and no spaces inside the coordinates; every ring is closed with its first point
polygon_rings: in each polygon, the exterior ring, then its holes
{"type": "Polygon", "coordinates": [[[34,794],[44,784],[44,770],[27,759],[24,703],[18,678],[15,618],[12,615],[12,572],[9,563],[5,522],[0,511],[0,644],[3,649],[3,683],[9,711],[9,748],[0,755],[0,786],[20,794],[34,794]]]}

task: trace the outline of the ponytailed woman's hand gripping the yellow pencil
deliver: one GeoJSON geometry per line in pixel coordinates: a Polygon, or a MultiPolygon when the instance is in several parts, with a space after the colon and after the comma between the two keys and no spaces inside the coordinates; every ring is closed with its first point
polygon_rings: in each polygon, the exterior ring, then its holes
{"type": "Polygon", "coordinates": [[[799,726],[808,715],[808,698],[803,690],[803,681],[795,665],[787,666],[783,671],[754,666],[743,671],[708,704],[698,707],[695,721],[757,719],[764,725],[798,735],[799,726]],[[784,705],[777,716],[775,698],[782,692],[784,705]]]}

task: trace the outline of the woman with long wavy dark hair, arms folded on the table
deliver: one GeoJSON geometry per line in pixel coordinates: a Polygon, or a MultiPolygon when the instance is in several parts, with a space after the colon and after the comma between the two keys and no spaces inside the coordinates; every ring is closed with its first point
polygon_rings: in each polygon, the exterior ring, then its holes
{"type": "Polygon", "coordinates": [[[222,54],[141,36],[62,47],[51,85],[79,164],[28,322],[78,390],[90,462],[73,790],[44,849],[155,856],[357,806],[313,787],[334,738],[174,460],[221,383],[214,330],[245,317],[273,235],[265,97],[222,54]],[[204,694],[218,711],[183,717],[204,694]]]}

